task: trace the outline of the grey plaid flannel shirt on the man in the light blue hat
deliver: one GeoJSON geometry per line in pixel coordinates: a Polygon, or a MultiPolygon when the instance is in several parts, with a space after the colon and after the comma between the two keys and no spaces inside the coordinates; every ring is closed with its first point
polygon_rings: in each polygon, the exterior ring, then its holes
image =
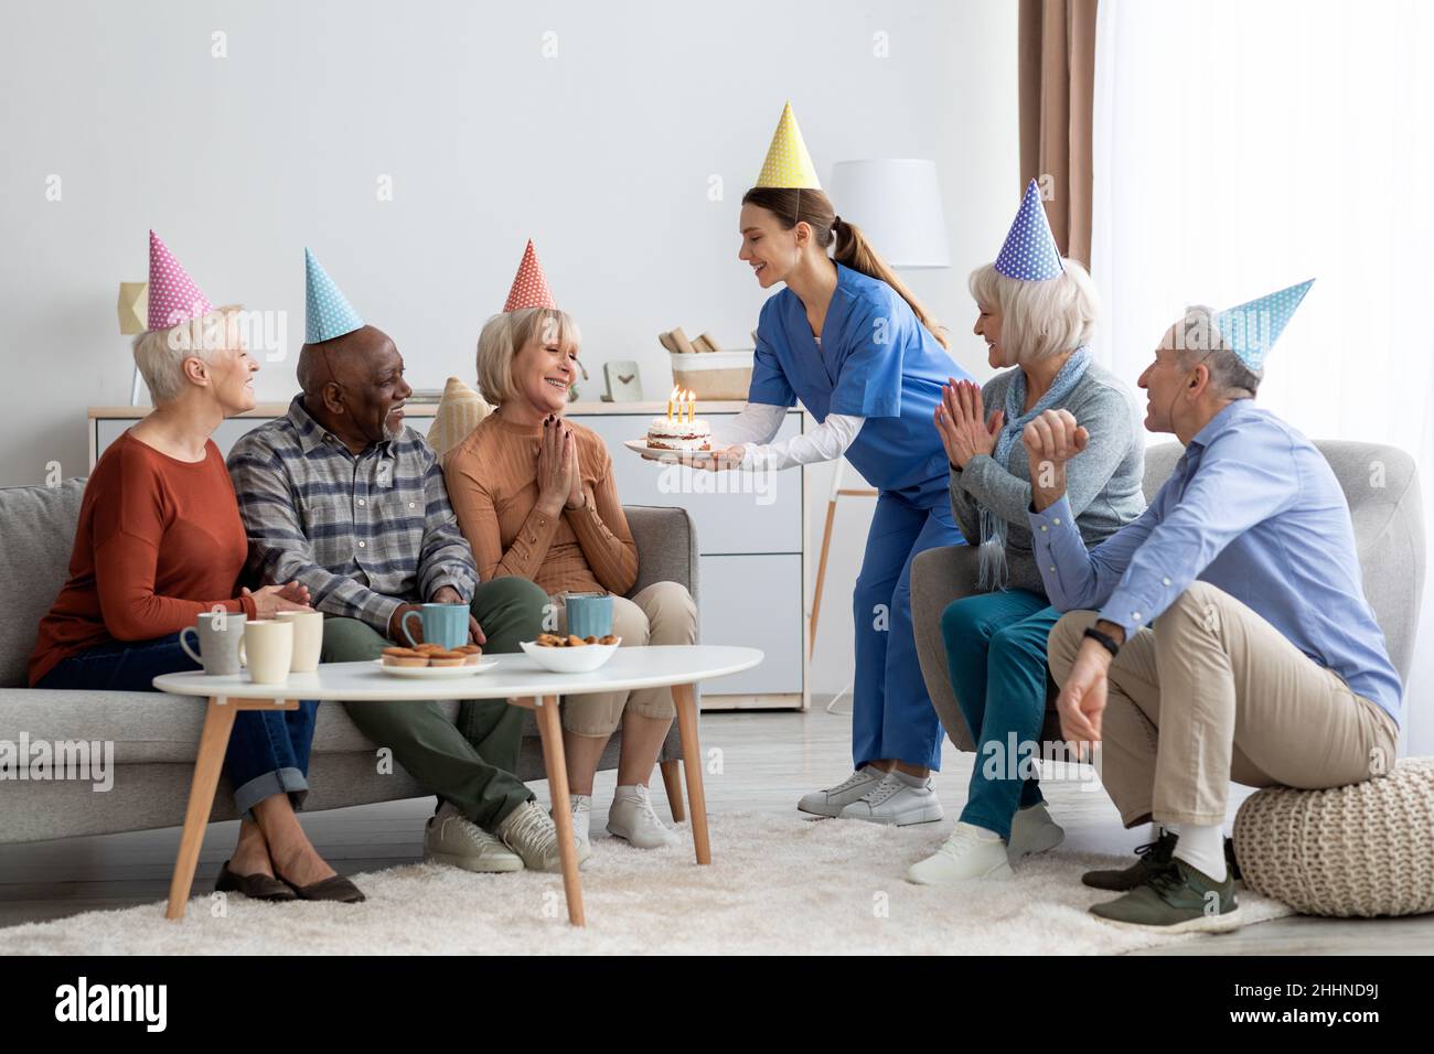
{"type": "Polygon", "coordinates": [[[387,635],[400,604],[452,585],[469,601],[478,569],[433,449],[410,427],[357,457],[295,396],[242,436],[229,476],[250,536],[248,574],[297,579],[313,605],[387,635]]]}

